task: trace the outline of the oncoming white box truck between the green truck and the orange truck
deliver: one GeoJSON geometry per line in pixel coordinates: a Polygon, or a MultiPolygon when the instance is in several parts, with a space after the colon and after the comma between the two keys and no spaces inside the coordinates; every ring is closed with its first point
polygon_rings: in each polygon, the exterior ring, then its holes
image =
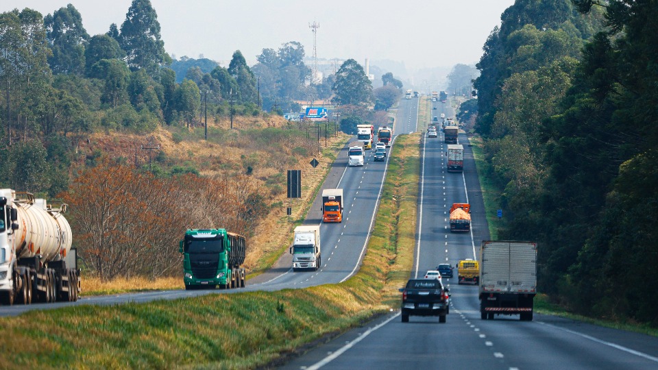
{"type": "Polygon", "coordinates": [[[295,227],[295,238],[290,253],[293,255],[293,271],[302,269],[317,271],[322,264],[320,225],[295,227]]]}

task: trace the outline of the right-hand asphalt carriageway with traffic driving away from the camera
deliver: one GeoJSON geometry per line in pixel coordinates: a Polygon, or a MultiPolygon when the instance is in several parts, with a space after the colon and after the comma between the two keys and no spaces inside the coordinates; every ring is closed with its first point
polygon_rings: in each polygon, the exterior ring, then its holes
{"type": "MultiPolygon", "coordinates": [[[[448,103],[432,106],[437,109],[431,116],[454,117],[448,103]]],[[[441,262],[454,266],[463,258],[476,258],[481,240],[489,239],[472,148],[464,134],[459,143],[465,149],[463,174],[446,171],[442,132],[422,140],[415,269],[410,277],[422,277],[441,262]],[[471,204],[472,234],[450,233],[448,210],[455,202],[471,204]]],[[[481,320],[478,286],[456,284],[456,271],[443,282],[452,293],[447,323],[439,324],[436,317],[410,317],[409,323],[402,323],[396,311],[281,368],[658,369],[658,338],[536,313],[530,322],[519,321],[518,315],[481,320]]]]}

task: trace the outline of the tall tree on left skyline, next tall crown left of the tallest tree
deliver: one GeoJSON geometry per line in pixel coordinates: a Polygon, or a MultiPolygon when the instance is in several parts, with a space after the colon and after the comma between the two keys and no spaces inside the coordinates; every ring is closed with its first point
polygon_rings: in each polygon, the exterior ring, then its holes
{"type": "Polygon", "coordinates": [[[48,62],[53,73],[84,74],[84,45],[89,34],[82,26],[82,16],[72,4],[44,18],[47,38],[53,49],[48,62]]]}

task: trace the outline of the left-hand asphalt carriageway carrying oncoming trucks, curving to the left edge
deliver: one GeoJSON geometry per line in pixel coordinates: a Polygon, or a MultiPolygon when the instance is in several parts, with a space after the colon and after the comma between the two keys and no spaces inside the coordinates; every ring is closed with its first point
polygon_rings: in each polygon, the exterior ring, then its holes
{"type": "MultiPolygon", "coordinates": [[[[403,99],[398,110],[398,122],[393,127],[393,140],[398,134],[408,134],[416,127],[419,99],[403,99]]],[[[395,145],[393,143],[393,145],[395,145]]],[[[320,224],[321,269],[297,271],[291,269],[292,256],[283,254],[272,269],[247,281],[240,289],[210,291],[149,291],[120,295],[82,297],[77,302],[55,302],[23,306],[0,306],[0,316],[12,316],[29,310],[51,310],[82,304],[121,304],[148,302],[156,299],[177,299],[206,294],[239,293],[243,291],[278,291],[284,288],[306,288],[320,284],[335,284],[347,280],[358,271],[365,254],[367,238],[374,225],[374,215],[382,189],[389,157],[374,162],[374,150],[367,150],[363,167],[348,167],[348,145],[334,162],[322,188],[343,188],[345,209],[342,223],[321,223],[321,191],[311,206],[305,224],[320,224]]],[[[390,149],[387,149],[390,151],[390,149]]],[[[302,172],[303,175],[303,172],[302,172]]]]}

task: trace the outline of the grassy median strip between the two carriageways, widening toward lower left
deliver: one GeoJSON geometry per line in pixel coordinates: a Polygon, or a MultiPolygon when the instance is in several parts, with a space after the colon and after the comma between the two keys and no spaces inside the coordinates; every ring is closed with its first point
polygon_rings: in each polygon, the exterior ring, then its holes
{"type": "Polygon", "coordinates": [[[413,259],[418,140],[395,141],[378,222],[347,282],[3,317],[0,367],[250,369],[398,308],[413,259]]]}

